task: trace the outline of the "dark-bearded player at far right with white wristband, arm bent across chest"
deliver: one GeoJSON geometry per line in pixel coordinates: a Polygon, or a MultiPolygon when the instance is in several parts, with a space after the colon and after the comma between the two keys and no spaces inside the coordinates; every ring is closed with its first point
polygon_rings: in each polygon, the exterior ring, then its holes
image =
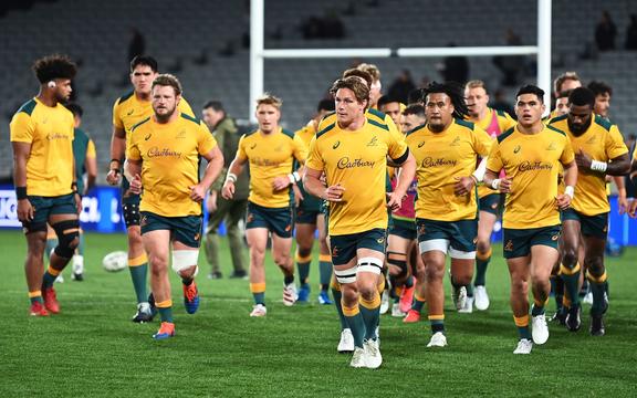
{"type": "Polygon", "coordinates": [[[595,94],[591,90],[575,88],[568,96],[568,114],[553,118],[550,126],[566,133],[579,170],[571,208],[562,212],[564,252],[560,271],[568,298],[564,302],[565,322],[570,331],[579,329],[578,284],[583,265],[593,293],[591,334],[601,336],[605,333],[603,315],[608,306],[604,250],[610,205],[605,178],[628,172],[630,159],[617,126],[594,114],[594,106],[595,94]],[[584,264],[578,261],[579,242],[584,247],[584,264]]]}

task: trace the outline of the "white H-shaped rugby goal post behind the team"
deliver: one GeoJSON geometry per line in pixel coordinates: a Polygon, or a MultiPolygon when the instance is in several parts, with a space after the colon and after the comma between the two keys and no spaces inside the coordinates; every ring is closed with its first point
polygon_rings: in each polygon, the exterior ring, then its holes
{"type": "Polygon", "coordinates": [[[537,0],[537,44],[519,46],[456,48],[378,48],[378,49],[299,49],[267,50],[264,45],[265,0],[250,0],[250,115],[255,123],[257,98],[263,94],[263,71],[267,59],[338,59],[338,57],[439,57],[450,55],[536,55],[537,86],[544,90],[544,103],[551,104],[551,13],[553,0],[537,0]]]}

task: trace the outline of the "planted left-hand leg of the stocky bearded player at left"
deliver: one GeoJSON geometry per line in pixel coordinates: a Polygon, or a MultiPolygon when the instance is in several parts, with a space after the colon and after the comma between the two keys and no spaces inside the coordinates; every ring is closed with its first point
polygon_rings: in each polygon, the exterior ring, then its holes
{"type": "Polygon", "coordinates": [[[165,224],[160,218],[148,217],[147,213],[144,214],[144,218],[146,219],[142,235],[144,252],[148,253],[150,287],[153,289],[155,305],[161,318],[159,331],[153,337],[164,339],[175,334],[173,298],[168,279],[170,226],[165,224]]]}

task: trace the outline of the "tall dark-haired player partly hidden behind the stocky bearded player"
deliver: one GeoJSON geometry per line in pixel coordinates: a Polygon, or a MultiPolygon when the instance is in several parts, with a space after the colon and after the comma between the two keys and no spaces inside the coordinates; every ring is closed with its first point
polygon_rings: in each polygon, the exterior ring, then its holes
{"type": "MultiPolygon", "coordinates": [[[[153,301],[146,291],[146,275],[148,259],[144,252],[142,232],[139,228],[139,196],[128,189],[128,180],[122,178],[121,169],[130,144],[133,126],[153,115],[150,87],[157,77],[157,61],[147,55],[135,56],[130,61],[130,83],[133,91],[115,102],[113,106],[113,136],[111,140],[111,164],[106,181],[111,185],[122,182],[122,210],[128,237],[128,271],[137,298],[137,313],[133,322],[144,323],[153,321],[154,308],[148,301],[153,301]]],[[[185,98],[179,101],[178,109],[195,117],[190,105],[185,98]]]]}

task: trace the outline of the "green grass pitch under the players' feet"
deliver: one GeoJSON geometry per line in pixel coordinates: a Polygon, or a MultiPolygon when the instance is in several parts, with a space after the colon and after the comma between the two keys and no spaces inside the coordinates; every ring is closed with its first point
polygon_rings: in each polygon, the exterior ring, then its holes
{"type": "MultiPolygon", "coordinates": [[[[440,350],[426,348],[428,323],[404,325],[384,315],[384,363],[369,370],[349,368],[349,356],[336,353],[335,310],[316,304],[316,262],[313,302],[288,308],[282,275],[269,256],[268,316],[250,318],[248,282],[206,279],[201,254],[199,312],[186,314],[173,273],[177,335],[155,342],[157,322],[130,322],[135,301],[128,271],[102,269],[104,254],[125,249],[124,235],[86,235],[86,279],[73,282],[65,271],[66,281],[55,285],[62,312],[45,318],[28,315],[23,235],[0,232],[0,242],[1,397],[637,396],[635,248],[607,259],[610,308],[604,337],[588,335],[585,306],[578,333],[551,324],[547,344],[514,356],[509,275],[497,247],[487,279],[489,311],[458,314],[447,298],[449,346],[440,350]]],[[[223,247],[226,275],[229,259],[223,247]]]]}

